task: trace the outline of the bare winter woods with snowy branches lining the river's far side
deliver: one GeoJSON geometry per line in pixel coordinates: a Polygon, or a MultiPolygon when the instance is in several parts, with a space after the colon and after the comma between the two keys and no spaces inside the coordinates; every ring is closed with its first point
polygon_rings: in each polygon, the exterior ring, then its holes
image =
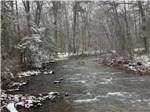
{"type": "Polygon", "coordinates": [[[135,49],[149,53],[149,1],[1,3],[2,65],[10,58],[16,65],[36,65],[57,53],[115,51],[130,59],[135,49]]]}

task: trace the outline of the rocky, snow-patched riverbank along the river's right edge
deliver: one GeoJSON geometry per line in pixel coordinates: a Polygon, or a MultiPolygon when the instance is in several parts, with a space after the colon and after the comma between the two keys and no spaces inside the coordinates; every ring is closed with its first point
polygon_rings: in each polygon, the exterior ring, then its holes
{"type": "Polygon", "coordinates": [[[123,57],[103,58],[98,62],[129,73],[150,75],[150,54],[134,56],[132,60],[123,57]]]}

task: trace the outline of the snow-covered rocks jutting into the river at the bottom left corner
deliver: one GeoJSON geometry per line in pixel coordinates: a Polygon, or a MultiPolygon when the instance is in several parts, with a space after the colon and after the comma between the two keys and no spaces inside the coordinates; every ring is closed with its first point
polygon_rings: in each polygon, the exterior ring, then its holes
{"type": "Polygon", "coordinates": [[[41,102],[45,100],[53,100],[56,96],[58,96],[58,92],[49,92],[47,95],[40,94],[39,96],[23,96],[6,94],[4,92],[1,93],[1,107],[2,109],[5,107],[10,112],[18,112],[17,108],[30,108],[41,106],[41,102]]]}

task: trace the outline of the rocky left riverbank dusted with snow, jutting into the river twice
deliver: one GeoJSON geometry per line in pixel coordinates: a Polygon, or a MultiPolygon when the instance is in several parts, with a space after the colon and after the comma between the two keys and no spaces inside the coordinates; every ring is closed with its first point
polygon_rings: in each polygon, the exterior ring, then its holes
{"type": "Polygon", "coordinates": [[[58,92],[48,92],[45,94],[15,94],[20,88],[28,85],[30,82],[24,79],[25,77],[36,77],[37,75],[51,75],[53,71],[26,71],[17,74],[15,81],[11,81],[5,90],[1,90],[1,111],[18,112],[26,111],[30,108],[39,107],[46,100],[53,101],[56,97],[60,97],[58,92]],[[21,110],[20,110],[21,109],[21,110]]]}

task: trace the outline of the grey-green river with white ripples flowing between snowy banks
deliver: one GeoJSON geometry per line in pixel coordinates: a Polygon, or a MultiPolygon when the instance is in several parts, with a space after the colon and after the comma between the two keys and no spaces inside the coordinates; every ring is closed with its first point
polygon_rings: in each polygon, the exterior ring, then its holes
{"type": "Polygon", "coordinates": [[[150,112],[150,76],[129,74],[96,64],[94,58],[56,63],[55,74],[27,78],[19,93],[69,93],[56,102],[46,101],[29,112],[150,112]],[[63,78],[61,84],[54,80],[63,78]]]}

